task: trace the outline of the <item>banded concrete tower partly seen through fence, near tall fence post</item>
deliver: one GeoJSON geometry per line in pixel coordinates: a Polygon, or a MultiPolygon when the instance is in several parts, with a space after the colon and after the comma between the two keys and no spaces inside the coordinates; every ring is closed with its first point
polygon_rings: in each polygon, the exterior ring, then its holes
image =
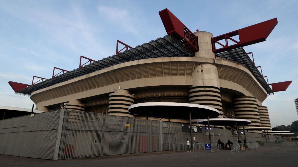
{"type": "Polygon", "coordinates": [[[76,111],[85,111],[85,105],[79,100],[71,100],[68,103],[64,103],[65,109],[71,110],[69,112],[69,123],[77,123],[83,121],[83,114],[76,111]]]}

